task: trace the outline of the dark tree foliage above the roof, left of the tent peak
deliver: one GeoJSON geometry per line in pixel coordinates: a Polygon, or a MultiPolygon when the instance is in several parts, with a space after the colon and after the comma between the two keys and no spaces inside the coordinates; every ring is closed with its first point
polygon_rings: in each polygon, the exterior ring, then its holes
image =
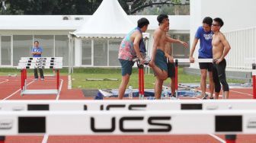
{"type": "Polygon", "coordinates": [[[9,0],[8,14],[93,14],[102,0],[9,0]]]}

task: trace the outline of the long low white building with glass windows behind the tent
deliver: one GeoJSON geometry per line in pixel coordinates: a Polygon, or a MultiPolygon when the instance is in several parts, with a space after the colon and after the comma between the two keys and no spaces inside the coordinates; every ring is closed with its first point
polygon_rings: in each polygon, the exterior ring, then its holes
{"type": "MultiPolygon", "coordinates": [[[[111,11],[107,11],[112,5],[117,5],[117,1],[104,0],[102,5],[94,13],[98,11],[103,13],[103,17],[92,18],[94,15],[3,15],[0,16],[0,67],[13,67],[18,65],[18,60],[24,56],[30,56],[30,49],[33,46],[34,40],[40,42],[43,46],[43,56],[62,56],[63,65],[69,65],[69,33],[75,30],[80,30],[82,25],[86,24],[91,19],[96,19],[91,29],[101,29],[107,23],[105,18],[109,16],[111,11]],[[112,3],[112,4],[111,4],[112,3]],[[103,5],[104,4],[104,5],[103,5]],[[101,21],[101,19],[106,21],[101,21]],[[99,23],[99,24],[98,24],[99,23]]],[[[119,4],[118,4],[119,5],[119,4]]],[[[120,5],[119,5],[120,6],[120,5]]],[[[118,9],[117,9],[118,10],[118,9]]],[[[119,14],[122,10],[114,11],[113,14],[119,14]]],[[[102,15],[102,14],[98,14],[102,15]]],[[[115,17],[115,15],[110,15],[115,17]]],[[[140,17],[149,19],[149,43],[147,43],[149,52],[152,47],[152,32],[158,27],[156,20],[157,15],[124,15],[136,27],[136,21],[140,17]]],[[[118,21],[122,21],[122,17],[118,17],[118,21]]],[[[189,26],[190,17],[187,16],[169,16],[173,37],[181,38],[189,41],[189,26]]],[[[110,22],[114,21],[111,18],[110,22]]],[[[117,23],[118,24],[118,23],[117,23]]],[[[90,28],[90,27],[89,27],[90,28]]],[[[108,28],[105,28],[108,29],[108,28]]],[[[130,27],[126,28],[129,32],[130,27]]],[[[124,34],[123,34],[124,37],[124,34]]],[[[101,35],[86,38],[75,38],[73,44],[73,64],[75,67],[116,67],[120,66],[117,60],[117,54],[122,37],[104,37],[101,35]]],[[[175,48],[174,54],[186,57],[189,54],[189,49],[175,48]]]]}

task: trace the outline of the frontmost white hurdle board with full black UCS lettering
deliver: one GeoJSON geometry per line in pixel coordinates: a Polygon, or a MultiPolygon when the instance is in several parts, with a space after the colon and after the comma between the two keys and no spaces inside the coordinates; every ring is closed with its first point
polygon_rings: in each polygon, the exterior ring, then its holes
{"type": "Polygon", "coordinates": [[[0,112],[0,135],[256,134],[255,110],[0,112]]]}

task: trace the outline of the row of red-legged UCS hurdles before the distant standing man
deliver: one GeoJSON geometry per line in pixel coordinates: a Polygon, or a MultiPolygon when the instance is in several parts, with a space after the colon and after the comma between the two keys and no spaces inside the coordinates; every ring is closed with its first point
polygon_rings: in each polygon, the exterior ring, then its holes
{"type": "Polygon", "coordinates": [[[18,63],[21,69],[21,96],[23,94],[56,94],[59,95],[59,69],[62,68],[62,57],[21,57],[18,63]],[[56,69],[56,89],[27,90],[27,69],[54,68],[56,69]]]}

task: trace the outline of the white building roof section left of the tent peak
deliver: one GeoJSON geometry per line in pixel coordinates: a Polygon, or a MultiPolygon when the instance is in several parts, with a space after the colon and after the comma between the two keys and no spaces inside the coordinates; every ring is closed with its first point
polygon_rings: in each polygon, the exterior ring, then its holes
{"type": "Polygon", "coordinates": [[[1,15],[0,30],[76,30],[91,15],[1,15]],[[69,20],[63,20],[69,17],[69,20]]]}

